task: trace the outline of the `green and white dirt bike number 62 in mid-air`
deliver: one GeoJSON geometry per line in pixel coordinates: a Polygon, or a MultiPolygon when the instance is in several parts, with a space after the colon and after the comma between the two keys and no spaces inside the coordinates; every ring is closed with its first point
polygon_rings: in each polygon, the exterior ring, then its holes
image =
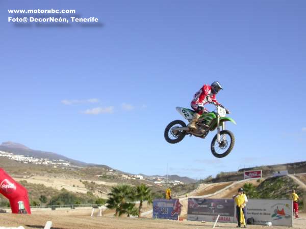
{"type": "MultiPolygon", "coordinates": [[[[217,134],[211,143],[212,154],[215,157],[222,158],[231,153],[235,145],[235,136],[231,131],[225,129],[225,122],[230,121],[234,124],[236,122],[232,118],[226,117],[226,110],[222,105],[213,104],[216,106],[216,110],[204,112],[196,123],[196,130],[190,130],[182,120],[175,120],[169,123],[164,133],[166,141],[175,144],[183,140],[188,134],[205,138],[209,131],[217,129],[217,134]],[[222,127],[222,130],[220,130],[220,127],[222,127]]],[[[194,110],[183,107],[176,107],[176,110],[189,122],[195,113],[194,110]]]]}

